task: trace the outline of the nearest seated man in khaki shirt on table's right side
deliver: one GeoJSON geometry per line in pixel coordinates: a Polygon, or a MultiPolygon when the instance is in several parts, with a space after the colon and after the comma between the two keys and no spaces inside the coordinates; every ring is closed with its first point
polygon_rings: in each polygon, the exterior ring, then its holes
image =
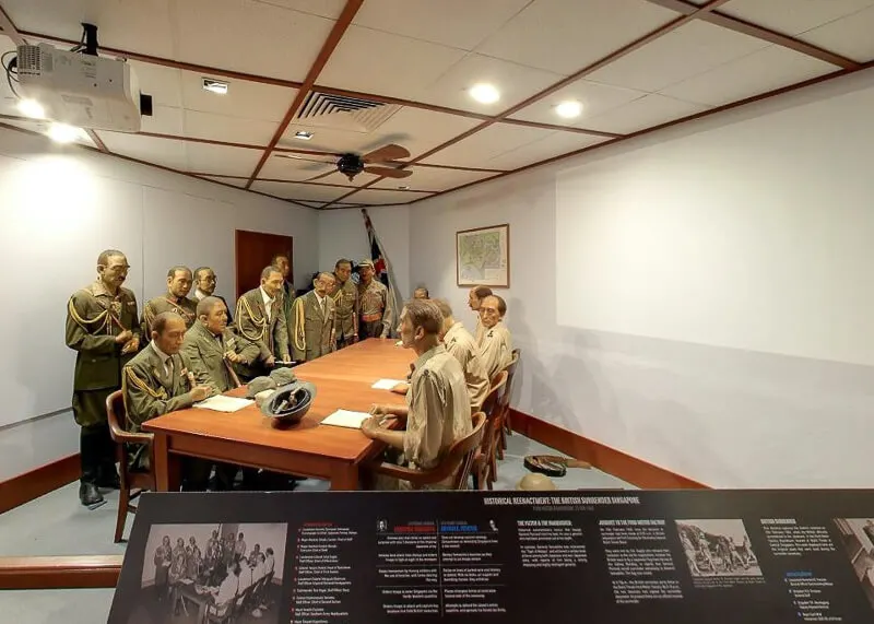
{"type": "MultiPolygon", "coordinates": [[[[442,321],[434,302],[414,299],[406,304],[398,331],[403,346],[418,356],[413,364],[406,405],[374,405],[374,415],[362,424],[366,436],[389,445],[389,460],[399,466],[432,469],[452,443],[473,429],[464,372],[440,344],[442,321]],[[385,426],[392,417],[404,422],[404,431],[385,426]]],[[[450,475],[429,487],[449,487],[451,482],[450,475]]],[[[410,490],[409,482],[383,475],[377,476],[374,486],[410,490]]]]}

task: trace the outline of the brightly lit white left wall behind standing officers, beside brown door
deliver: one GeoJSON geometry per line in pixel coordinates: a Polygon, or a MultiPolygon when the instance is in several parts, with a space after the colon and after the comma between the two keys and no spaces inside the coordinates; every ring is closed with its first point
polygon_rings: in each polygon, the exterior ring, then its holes
{"type": "Polygon", "coordinates": [[[0,130],[0,480],[79,449],[64,316],[70,295],[95,279],[102,249],[128,255],[126,285],[141,309],[176,263],[212,266],[232,297],[236,228],[294,236],[299,274],[317,267],[315,211],[9,130],[0,130]]]}

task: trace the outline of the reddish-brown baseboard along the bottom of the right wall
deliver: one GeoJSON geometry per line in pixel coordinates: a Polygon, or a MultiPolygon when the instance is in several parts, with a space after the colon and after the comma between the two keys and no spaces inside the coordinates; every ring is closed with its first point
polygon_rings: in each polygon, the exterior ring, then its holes
{"type": "Polygon", "coordinates": [[[510,410],[510,424],[513,431],[531,439],[560,450],[572,458],[588,461],[599,470],[618,476],[638,487],[646,490],[709,490],[709,486],[704,483],[698,483],[682,474],[676,474],[518,410],[510,410]]]}

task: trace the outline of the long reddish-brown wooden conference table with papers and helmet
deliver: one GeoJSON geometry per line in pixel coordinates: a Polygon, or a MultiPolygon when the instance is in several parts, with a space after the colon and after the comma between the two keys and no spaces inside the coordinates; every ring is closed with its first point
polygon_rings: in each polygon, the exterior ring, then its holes
{"type": "Polygon", "coordinates": [[[394,340],[370,339],[297,366],[297,378],[315,384],[316,400],[287,428],[276,427],[255,404],[232,413],[190,408],[143,423],[144,431],[155,434],[158,492],[179,490],[185,456],[326,479],[331,490],[357,490],[359,466],[385,445],[358,429],[320,422],[339,409],[367,412],[374,403],[402,404],[403,397],[370,386],[381,378],[404,379],[413,360],[414,353],[394,340]]]}

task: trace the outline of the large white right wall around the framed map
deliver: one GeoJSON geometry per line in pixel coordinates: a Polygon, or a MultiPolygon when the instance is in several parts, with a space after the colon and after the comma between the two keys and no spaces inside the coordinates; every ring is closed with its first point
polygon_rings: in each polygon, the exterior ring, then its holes
{"type": "Polygon", "coordinates": [[[869,71],[418,202],[412,281],[472,325],[454,234],[509,222],[520,410],[712,486],[874,486],[872,111],[869,71]]]}

